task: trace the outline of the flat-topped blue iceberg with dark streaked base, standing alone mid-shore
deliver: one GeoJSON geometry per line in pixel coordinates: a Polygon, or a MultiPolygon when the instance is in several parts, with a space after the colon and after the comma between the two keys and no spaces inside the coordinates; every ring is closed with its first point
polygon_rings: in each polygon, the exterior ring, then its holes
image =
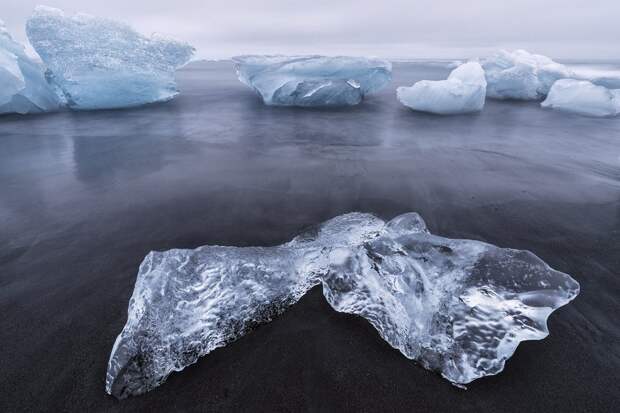
{"type": "Polygon", "coordinates": [[[357,105],[392,79],[392,64],[363,57],[236,56],[239,80],[267,105],[357,105]]]}

